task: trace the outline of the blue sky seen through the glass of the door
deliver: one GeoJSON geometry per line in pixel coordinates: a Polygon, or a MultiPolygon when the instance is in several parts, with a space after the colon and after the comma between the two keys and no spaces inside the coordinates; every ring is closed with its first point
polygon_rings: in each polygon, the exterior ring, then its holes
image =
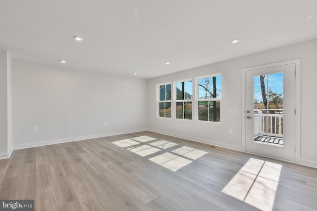
{"type": "MultiPolygon", "coordinates": [[[[265,90],[267,91],[267,80],[268,80],[268,87],[272,89],[272,91],[277,93],[282,93],[283,98],[283,73],[275,73],[270,75],[265,75],[264,77],[264,84],[265,90]]],[[[262,93],[261,93],[261,84],[260,84],[260,76],[254,77],[254,98],[259,99],[259,102],[262,100],[262,93]]]]}

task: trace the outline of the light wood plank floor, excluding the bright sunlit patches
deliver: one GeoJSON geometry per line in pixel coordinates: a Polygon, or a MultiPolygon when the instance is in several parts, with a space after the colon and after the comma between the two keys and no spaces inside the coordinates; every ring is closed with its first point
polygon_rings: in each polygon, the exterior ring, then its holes
{"type": "Polygon", "coordinates": [[[249,161],[282,165],[273,210],[317,210],[317,169],[152,132],[15,150],[0,160],[0,199],[36,211],[253,211],[221,190],[249,161]],[[178,145],[141,157],[111,142],[147,135],[178,145]],[[177,170],[148,159],[188,146],[208,152],[177,170]]]}

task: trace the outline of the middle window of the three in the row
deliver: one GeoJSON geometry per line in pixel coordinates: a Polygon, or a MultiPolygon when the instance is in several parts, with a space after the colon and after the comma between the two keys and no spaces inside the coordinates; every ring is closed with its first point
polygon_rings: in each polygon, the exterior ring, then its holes
{"type": "Polygon", "coordinates": [[[192,100],[193,100],[193,82],[182,81],[175,83],[176,100],[175,114],[176,119],[192,119],[192,100]]]}

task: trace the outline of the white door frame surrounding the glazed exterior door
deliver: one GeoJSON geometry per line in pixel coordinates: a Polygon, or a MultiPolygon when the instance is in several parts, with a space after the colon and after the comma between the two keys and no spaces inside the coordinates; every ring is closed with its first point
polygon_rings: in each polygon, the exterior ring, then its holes
{"type": "MultiPolygon", "coordinates": [[[[249,68],[243,68],[242,69],[242,109],[241,109],[241,150],[243,152],[246,151],[246,119],[245,119],[245,101],[246,101],[246,94],[245,94],[245,74],[246,71],[252,71],[252,70],[257,70],[257,69],[263,69],[263,68],[269,68],[269,67],[275,67],[275,66],[280,66],[280,65],[287,65],[287,64],[295,64],[295,110],[296,110],[296,115],[295,115],[295,163],[299,164],[300,163],[300,139],[301,139],[301,59],[293,59],[293,60],[288,60],[288,61],[283,61],[283,62],[276,62],[276,63],[271,63],[271,64],[265,64],[265,65],[260,65],[260,66],[255,66],[255,67],[249,67],[249,68]]],[[[295,111],[294,111],[295,112],[295,111]]],[[[247,152],[250,153],[250,152],[247,152]]],[[[250,153],[250,154],[256,154],[256,153],[250,153]]],[[[260,155],[260,154],[257,154],[260,155]]],[[[264,156],[264,155],[260,155],[264,156]]],[[[264,156],[264,157],[270,157],[270,156],[264,156]]],[[[270,157],[272,158],[272,157],[270,157]]],[[[277,158],[274,158],[277,159],[277,158]]],[[[283,159],[278,159],[278,160],[283,160],[283,159]]],[[[287,160],[284,160],[287,161],[287,160]]],[[[290,161],[287,161],[290,162],[290,161]]],[[[293,162],[292,162],[293,163],[293,162]]]]}

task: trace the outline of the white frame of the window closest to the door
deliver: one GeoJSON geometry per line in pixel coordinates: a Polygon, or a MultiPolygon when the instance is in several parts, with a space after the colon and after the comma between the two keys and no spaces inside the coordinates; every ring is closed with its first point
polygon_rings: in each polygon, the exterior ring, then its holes
{"type": "Polygon", "coordinates": [[[221,73],[215,73],[215,74],[210,74],[210,75],[206,75],[206,76],[199,76],[199,77],[195,77],[195,122],[198,123],[205,123],[205,124],[220,124],[221,123],[221,111],[222,111],[222,103],[221,103],[221,98],[222,98],[222,75],[221,73]],[[217,77],[220,76],[221,77],[221,97],[220,98],[207,98],[207,99],[199,99],[199,80],[200,79],[204,79],[204,78],[212,78],[212,77],[217,77]],[[208,121],[204,121],[204,120],[199,120],[199,106],[198,103],[199,102],[210,102],[210,101],[219,101],[220,103],[220,117],[219,117],[219,122],[214,122],[214,121],[210,121],[210,112],[208,112],[208,121]]]}

